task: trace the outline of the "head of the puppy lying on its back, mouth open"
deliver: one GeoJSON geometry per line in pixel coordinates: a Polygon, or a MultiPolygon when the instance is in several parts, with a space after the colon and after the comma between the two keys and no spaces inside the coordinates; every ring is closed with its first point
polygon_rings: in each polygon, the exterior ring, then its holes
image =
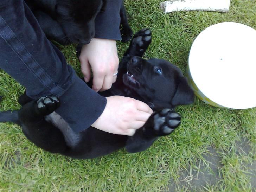
{"type": "Polygon", "coordinates": [[[162,59],[132,57],[123,83],[135,90],[153,109],[173,108],[194,102],[194,93],[181,70],[162,59]]]}

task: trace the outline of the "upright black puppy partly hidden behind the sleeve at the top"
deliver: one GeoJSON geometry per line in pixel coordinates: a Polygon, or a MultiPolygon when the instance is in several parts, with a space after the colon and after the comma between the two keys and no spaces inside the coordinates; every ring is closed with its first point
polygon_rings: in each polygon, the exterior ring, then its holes
{"type": "MultiPolygon", "coordinates": [[[[62,45],[88,44],[95,35],[95,18],[104,11],[106,0],[25,0],[46,37],[62,45]]],[[[132,38],[126,10],[120,10],[122,40],[132,38]]]]}

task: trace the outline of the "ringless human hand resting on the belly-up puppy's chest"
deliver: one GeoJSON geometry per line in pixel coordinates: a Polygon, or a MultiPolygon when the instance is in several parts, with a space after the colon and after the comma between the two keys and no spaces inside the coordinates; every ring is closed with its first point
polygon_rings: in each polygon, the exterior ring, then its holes
{"type": "Polygon", "coordinates": [[[132,136],[152,113],[152,109],[141,101],[111,96],[107,97],[103,113],[91,126],[109,133],[132,136]]]}

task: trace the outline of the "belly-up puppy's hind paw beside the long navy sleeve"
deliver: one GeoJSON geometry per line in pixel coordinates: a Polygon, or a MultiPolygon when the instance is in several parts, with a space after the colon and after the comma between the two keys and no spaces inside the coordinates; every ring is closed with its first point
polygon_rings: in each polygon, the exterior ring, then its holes
{"type": "Polygon", "coordinates": [[[49,115],[55,111],[60,105],[59,98],[51,95],[47,97],[41,97],[36,103],[36,111],[40,115],[49,115]]]}

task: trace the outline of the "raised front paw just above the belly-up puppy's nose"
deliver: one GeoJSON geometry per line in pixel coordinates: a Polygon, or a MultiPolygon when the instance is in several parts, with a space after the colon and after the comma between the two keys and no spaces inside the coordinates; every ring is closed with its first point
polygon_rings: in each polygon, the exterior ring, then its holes
{"type": "Polygon", "coordinates": [[[151,31],[149,29],[142,29],[134,34],[130,43],[128,54],[130,56],[142,57],[151,43],[151,31]]]}

